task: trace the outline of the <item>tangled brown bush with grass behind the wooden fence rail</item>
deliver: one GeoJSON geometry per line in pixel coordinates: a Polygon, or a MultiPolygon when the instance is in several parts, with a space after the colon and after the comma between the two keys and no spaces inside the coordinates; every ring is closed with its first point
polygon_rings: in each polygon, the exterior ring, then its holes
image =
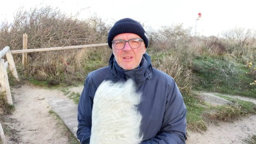
{"type": "MultiPolygon", "coordinates": [[[[11,50],[21,49],[24,33],[28,49],[38,49],[105,43],[109,29],[96,15],[81,21],[50,6],[29,12],[19,9],[14,19],[12,24],[4,23],[0,31],[0,46],[8,45],[11,50]]],[[[21,54],[13,56],[21,78],[69,85],[73,80],[83,81],[88,71],[105,66],[108,58],[102,54],[109,53],[107,47],[28,53],[27,67],[21,65],[21,54]],[[91,68],[83,68],[87,66],[91,68]]]]}

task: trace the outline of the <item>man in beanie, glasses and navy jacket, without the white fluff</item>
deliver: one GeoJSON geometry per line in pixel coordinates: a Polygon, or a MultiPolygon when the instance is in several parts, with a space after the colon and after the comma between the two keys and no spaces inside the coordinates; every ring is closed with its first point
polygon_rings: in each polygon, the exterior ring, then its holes
{"type": "MultiPolygon", "coordinates": [[[[135,82],[141,93],[141,144],[185,144],[186,106],[174,79],[152,67],[146,53],[149,41],[142,25],[131,18],[117,21],[110,29],[108,45],[113,50],[109,66],[90,72],[78,103],[77,136],[89,144],[93,99],[103,81],[135,82]]],[[[111,129],[111,127],[110,127],[111,129]]]]}

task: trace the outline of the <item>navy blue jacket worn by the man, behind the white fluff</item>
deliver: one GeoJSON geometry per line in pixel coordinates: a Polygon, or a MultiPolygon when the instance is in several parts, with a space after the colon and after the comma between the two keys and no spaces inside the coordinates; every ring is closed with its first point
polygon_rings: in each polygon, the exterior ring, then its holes
{"type": "Polygon", "coordinates": [[[133,79],[137,91],[142,92],[142,102],[138,105],[142,114],[142,144],[185,144],[187,109],[183,97],[171,76],[152,67],[148,54],[143,55],[140,68],[133,70],[121,69],[112,54],[109,67],[88,74],[78,103],[80,143],[90,143],[91,110],[97,87],[104,80],[128,79],[133,79]]]}

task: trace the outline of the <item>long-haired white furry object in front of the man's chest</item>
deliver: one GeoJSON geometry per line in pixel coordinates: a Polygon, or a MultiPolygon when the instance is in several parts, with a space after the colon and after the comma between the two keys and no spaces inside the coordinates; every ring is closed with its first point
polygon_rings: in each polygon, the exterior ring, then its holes
{"type": "Polygon", "coordinates": [[[140,97],[132,80],[103,81],[93,100],[90,144],[139,144],[140,97]]]}

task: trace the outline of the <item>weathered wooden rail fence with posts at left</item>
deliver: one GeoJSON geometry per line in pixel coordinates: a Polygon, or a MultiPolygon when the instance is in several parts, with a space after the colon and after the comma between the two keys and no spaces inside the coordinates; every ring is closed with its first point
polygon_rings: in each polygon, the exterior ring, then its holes
{"type": "MultiPolygon", "coordinates": [[[[28,58],[27,53],[32,52],[43,52],[43,51],[51,51],[51,50],[65,50],[65,49],[81,49],[86,47],[97,47],[97,46],[106,46],[108,43],[104,44],[92,44],[92,45],[75,45],[75,46],[63,46],[63,47],[52,47],[52,48],[42,48],[42,49],[27,49],[27,34],[23,34],[23,49],[22,50],[10,50],[9,46],[6,46],[4,49],[0,51],[0,92],[5,93],[6,101],[8,104],[13,104],[12,96],[9,87],[8,75],[7,75],[7,67],[9,64],[9,69],[12,72],[12,75],[19,81],[18,73],[16,71],[16,67],[14,64],[14,59],[12,54],[23,54],[22,55],[22,64],[27,66],[28,58]],[[2,59],[3,56],[6,55],[7,61],[5,62],[2,59]]],[[[5,134],[3,128],[0,123],[0,144],[5,144],[5,134]]]]}

